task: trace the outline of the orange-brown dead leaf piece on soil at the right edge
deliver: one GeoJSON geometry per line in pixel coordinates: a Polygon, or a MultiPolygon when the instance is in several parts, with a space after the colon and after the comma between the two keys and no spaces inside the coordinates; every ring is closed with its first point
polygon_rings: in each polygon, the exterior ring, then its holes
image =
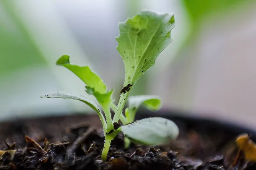
{"type": "Polygon", "coordinates": [[[244,152],[245,159],[256,161],[256,144],[249,138],[248,134],[241,134],[236,139],[236,144],[244,152]]]}

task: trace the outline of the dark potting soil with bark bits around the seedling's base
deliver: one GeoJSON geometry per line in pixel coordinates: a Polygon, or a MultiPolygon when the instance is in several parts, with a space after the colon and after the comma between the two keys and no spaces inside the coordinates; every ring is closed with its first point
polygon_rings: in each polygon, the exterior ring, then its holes
{"type": "Polygon", "coordinates": [[[180,128],[177,140],[155,147],[131,144],[124,150],[120,133],[106,162],[100,160],[104,137],[97,115],[3,122],[0,170],[256,170],[235,144],[246,130],[173,120],[180,128]]]}

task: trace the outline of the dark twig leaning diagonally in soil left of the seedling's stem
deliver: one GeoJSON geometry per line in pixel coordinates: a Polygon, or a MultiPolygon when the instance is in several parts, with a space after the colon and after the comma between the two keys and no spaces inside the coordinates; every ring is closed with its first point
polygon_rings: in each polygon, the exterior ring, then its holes
{"type": "Polygon", "coordinates": [[[95,131],[95,128],[90,127],[85,133],[82,133],[74,142],[73,144],[67,148],[67,154],[71,154],[76,152],[77,148],[81,145],[82,142],[95,131]]]}

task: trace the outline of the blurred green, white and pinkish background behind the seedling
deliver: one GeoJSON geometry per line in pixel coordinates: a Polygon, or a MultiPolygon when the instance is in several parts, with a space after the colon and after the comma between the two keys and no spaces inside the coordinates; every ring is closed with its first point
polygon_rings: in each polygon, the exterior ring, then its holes
{"type": "Polygon", "coordinates": [[[174,41],[132,94],[159,95],[166,110],[256,127],[255,7],[254,0],[2,0],[0,119],[91,113],[76,101],[39,98],[53,91],[87,96],[78,78],[55,66],[63,54],[90,65],[118,100],[124,66],[117,23],[150,9],[175,13],[174,41]]]}

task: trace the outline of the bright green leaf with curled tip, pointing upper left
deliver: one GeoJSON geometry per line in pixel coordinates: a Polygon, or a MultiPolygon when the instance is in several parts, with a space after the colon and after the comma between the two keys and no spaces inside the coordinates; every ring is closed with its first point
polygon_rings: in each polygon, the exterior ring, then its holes
{"type": "Polygon", "coordinates": [[[89,66],[78,66],[70,64],[68,55],[61,56],[57,61],[56,65],[62,65],[65,68],[72,71],[79,77],[87,86],[94,88],[95,91],[104,94],[106,93],[106,85],[103,83],[102,79],[95,73],[93,73],[89,66]]]}

